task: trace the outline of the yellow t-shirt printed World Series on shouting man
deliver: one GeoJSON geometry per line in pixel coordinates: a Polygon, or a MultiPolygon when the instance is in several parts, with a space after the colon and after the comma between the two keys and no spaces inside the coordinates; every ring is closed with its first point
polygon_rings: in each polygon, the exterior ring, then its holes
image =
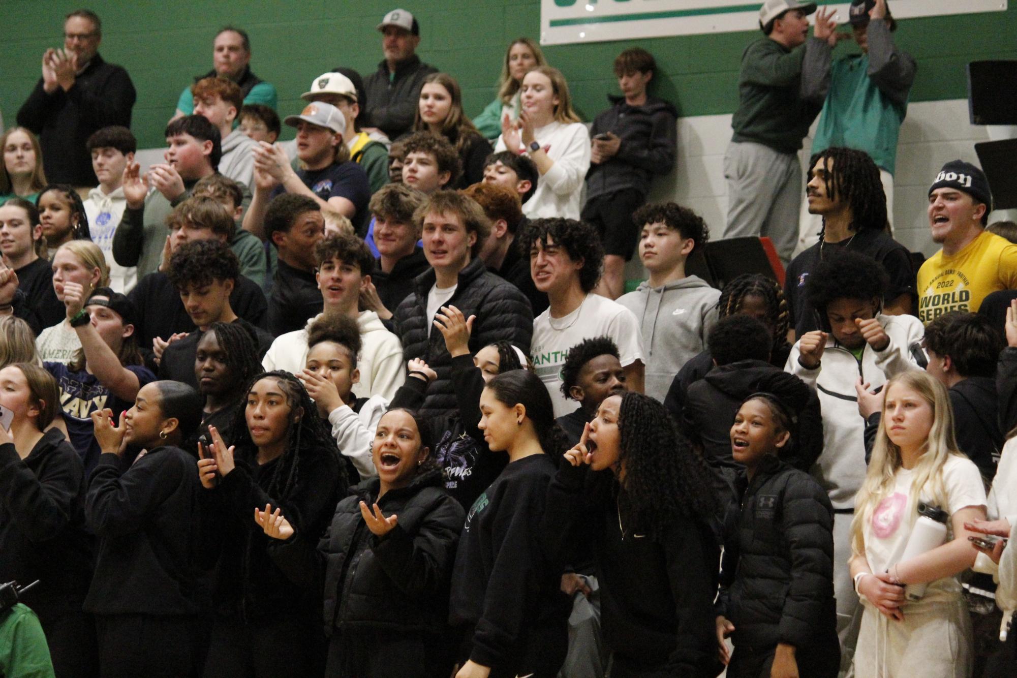
{"type": "Polygon", "coordinates": [[[973,313],[990,293],[1017,289],[1017,245],[982,232],[961,251],[940,250],[918,269],[918,319],[922,324],[950,311],[973,313]]]}

